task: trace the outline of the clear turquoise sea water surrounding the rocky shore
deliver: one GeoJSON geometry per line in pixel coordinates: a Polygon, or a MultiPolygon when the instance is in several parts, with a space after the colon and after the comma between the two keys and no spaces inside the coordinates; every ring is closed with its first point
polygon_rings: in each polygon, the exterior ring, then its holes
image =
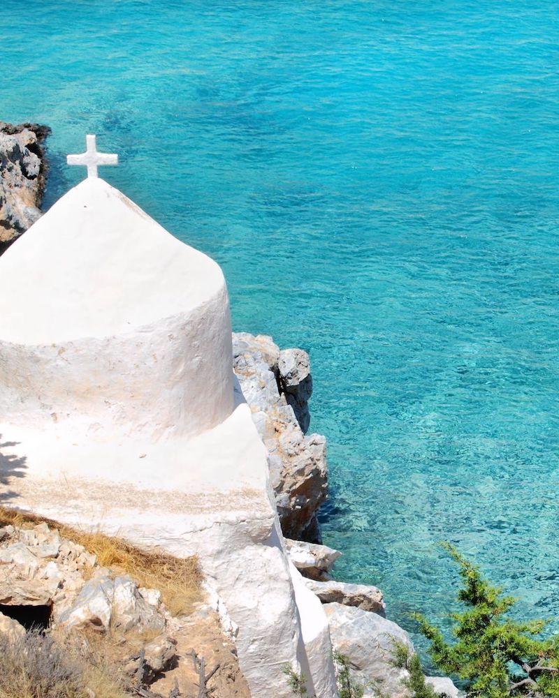
{"type": "Polygon", "coordinates": [[[235,329],[310,351],[337,576],[440,618],[447,539],[558,616],[557,3],[4,0],[0,42],[47,205],[96,133],[235,329]]]}

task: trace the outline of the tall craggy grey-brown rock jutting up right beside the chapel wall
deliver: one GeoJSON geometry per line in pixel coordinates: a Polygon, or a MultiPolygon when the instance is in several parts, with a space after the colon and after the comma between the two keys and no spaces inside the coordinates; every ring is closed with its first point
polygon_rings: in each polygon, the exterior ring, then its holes
{"type": "Polygon", "coordinates": [[[233,367],[268,448],[282,531],[320,542],[317,510],[328,493],[328,471],[324,436],[303,433],[312,392],[308,355],[300,349],[280,352],[268,336],[235,333],[233,367]]]}

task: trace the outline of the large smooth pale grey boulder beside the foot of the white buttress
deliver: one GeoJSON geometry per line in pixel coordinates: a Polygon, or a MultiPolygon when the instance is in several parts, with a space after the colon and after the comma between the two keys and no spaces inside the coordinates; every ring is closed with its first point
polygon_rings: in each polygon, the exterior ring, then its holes
{"type": "Polygon", "coordinates": [[[332,644],[349,658],[356,681],[375,685],[391,698],[408,698],[409,691],[403,681],[409,672],[393,665],[394,641],[413,651],[407,632],[376,613],[337,603],[324,604],[323,608],[328,616],[332,644]]]}

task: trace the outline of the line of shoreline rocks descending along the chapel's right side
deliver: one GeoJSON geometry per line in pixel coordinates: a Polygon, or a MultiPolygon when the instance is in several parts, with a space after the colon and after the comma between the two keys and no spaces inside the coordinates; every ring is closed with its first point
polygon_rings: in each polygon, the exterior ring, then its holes
{"type": "MultiPolygon", "coordinates": [[[[382,591],[365,584],[332,581],[342,555],[321,544],[317,513],[328,496],[326,439],[306,435],[312,394],[310,360],[302,349],[280,350],[269,336],[233,334],[233,367],[266,445],[270,479],[289,559],[324,605],[335,651],[349,658],[356,683],[392,698],[410,698],[409,672],[395,667],[394,641],[414,652],[407,632],[386,618],[382,591]]],[[[426,677],[451,698],[458,690],[449,678],[426,677]]]]}

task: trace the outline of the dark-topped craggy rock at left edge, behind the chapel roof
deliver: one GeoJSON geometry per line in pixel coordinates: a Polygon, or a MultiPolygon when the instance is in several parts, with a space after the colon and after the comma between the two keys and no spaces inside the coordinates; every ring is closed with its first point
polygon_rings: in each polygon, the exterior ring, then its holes
{"type": "Polygon", "coordinates": [[[0,121],[0,254],[41,216],[49,133],[48,126],[0,121]]]}

